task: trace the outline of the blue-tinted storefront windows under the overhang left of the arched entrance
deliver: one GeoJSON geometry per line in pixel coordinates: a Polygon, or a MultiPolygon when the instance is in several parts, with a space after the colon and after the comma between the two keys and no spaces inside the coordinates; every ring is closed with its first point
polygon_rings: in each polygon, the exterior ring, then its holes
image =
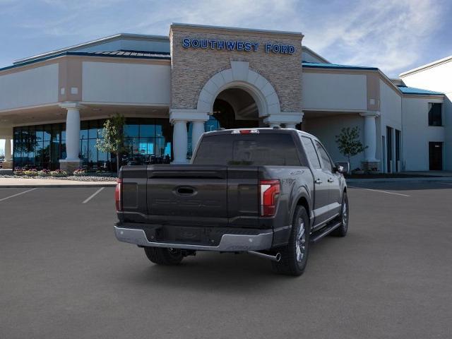
{"type": "MultiPolygon", "coordinates": [[[[102,138],[105,120],[81,121],[81,166],[89,171],[116,171],[116,157],[95,147],[102,138]]],[[[172,126],[167,119],[126,119],[126,153],[122,165],[168,163],[172,157],[172,126]]],[[[57,169],[66,158],[66,124],[20,126],[14,128],[14,166],[57,169]]]]}

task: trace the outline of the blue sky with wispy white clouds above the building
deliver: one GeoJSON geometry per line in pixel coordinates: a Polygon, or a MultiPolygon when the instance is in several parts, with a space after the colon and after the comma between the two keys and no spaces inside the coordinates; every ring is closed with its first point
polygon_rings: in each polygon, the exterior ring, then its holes
{"type": "Polygon", "coordinates": [[[328,61],[389,77],[452,55],[450,0],[0,0],[0,67],[119,32],[168,35],[172,22],[302,32],[328,61]]]}

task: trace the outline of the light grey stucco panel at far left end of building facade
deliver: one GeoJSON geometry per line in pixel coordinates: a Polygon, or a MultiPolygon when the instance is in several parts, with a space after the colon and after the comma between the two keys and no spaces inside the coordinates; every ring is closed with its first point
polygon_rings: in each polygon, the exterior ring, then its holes
{"type": "Polygon", "coordinates": [[[0,110],[58,101],[58,64],[0,76],[0,110]]]}

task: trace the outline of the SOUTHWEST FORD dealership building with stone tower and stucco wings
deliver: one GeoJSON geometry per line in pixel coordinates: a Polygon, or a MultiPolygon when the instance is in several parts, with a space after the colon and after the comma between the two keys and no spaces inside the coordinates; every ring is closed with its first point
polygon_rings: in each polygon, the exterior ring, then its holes
{"type": "Polygon", "coordinates": [[[266,126],[312,133],[344,161],[335,136],[357,126],[367,148],[352,168],[452,170],[452,57],[391,79],[302,40],[174,23],[169,37],[118,34],[15,61],[0,69],[4,167],[114,169],[95,145],[119,113],[123,163],[189,162],[204,131],[266,126]]]}

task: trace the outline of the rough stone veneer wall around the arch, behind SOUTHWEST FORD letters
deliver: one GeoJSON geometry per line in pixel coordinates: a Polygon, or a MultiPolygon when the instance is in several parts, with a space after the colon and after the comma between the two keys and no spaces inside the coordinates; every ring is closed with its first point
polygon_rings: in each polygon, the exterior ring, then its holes
{"type": "Polygon", "coordinates": [[[281,112],[302,112],[302,35],[287,33],[229,31],[209,28],[208,32],[190,26],[172,25],[171,89],[173,109],[196,109],[198,95],[209,78],[230,69],[230,61],[249,61],[249,69],[266,78],[275,88],[281,112]],[[257,52],[182,47],[184,38],[259,42],[257,52]],[[292,44],[294,54],[265,52],[265,44],[292,44]]]}

